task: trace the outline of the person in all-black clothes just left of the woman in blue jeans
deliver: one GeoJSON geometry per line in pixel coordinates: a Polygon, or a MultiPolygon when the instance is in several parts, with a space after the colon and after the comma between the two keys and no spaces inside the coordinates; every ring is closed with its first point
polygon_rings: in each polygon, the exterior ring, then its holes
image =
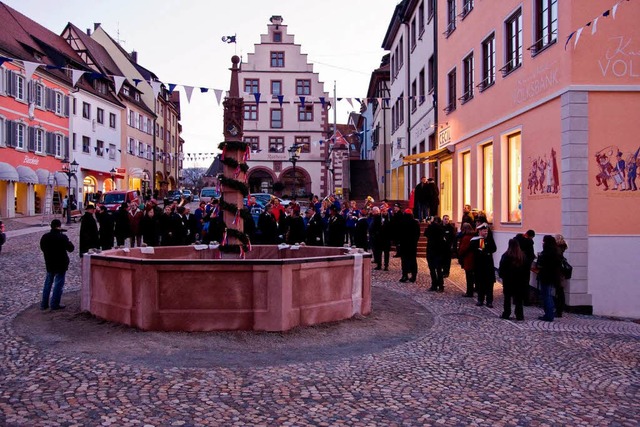
{"type": "Polygon", "coordinates": [[[500,316],[503,319],[509,319],[511,316],[511,300],[513,300],[516,306],[516,320],[524,320],[523,302],[527,289],[520,279],[529,269],[526,256],[520,249],[518,241],[516,239],[509,240],[509,247],[502,254],[498,267],[498,275],[502,279],[504,290],[504,310],[500,316]]]}

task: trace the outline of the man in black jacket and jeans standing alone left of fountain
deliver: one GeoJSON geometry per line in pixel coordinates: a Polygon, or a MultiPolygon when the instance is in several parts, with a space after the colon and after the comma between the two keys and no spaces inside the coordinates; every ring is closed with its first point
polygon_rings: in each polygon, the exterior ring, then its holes
{"type": "Polygon", "coordinates": [[[46,310],[49,307],[51,310],[61,310],[65,307],[60,305],[60,299],[62,298],[64,279],[69,269],[67,252],[73,252],[74,247],[63,231],[60,220],[54,219],[51,221],[51,231],[40,239],[40,249],[44,254],[44,263],[47,268],[47,276],[42,289],[41,310],[46,310]],[[53,285],[53,295],[51,295],[51,302],[49,302],[51,285],[53,285]]]}

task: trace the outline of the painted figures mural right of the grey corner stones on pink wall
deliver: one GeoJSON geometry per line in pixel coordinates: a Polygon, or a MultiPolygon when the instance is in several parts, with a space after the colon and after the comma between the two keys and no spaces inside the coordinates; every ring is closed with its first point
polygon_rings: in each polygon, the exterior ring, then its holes
{"type": "Polygon", "coordinates": [[[596,186],[603,191],[638,191],[636,184],[637,170],[640,166],[640,147],[624,153],[617,146],[610,145],[596,153],[598,174],[596,186]]]}

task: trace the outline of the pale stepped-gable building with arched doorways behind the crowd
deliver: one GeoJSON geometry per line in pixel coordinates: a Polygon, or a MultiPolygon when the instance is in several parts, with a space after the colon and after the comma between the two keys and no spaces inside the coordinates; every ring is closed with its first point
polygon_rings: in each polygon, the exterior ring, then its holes
{"type": "Polygon", "coordinates": [[[251,191],[273,192],[281,183],[286,195],[327,194],[342,168],[342,158],[328,162],[340,152],[330,153],[332,143],[325,142],[329,96],[282,17],[271,18],[255,52],[242,62],[239,78],[245,92],[244,141],[252,148],[251,191]],[[298,157],[294,163],[292,154],[298,157]]]}

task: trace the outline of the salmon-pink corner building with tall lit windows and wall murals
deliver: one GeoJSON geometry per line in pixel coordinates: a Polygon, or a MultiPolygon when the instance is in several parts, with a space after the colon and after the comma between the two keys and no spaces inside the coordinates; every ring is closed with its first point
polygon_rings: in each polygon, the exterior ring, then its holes
{"type": "Polygon", "coordinates": [[[439,177],[451,213],[485,211],[499,253],[527,229],[538,251],[564,235],[568,305],[640,317],[640,5],[475,3],[438,2],[435,148],[452,152],[438,162],[453,171],[439,177]]]}

